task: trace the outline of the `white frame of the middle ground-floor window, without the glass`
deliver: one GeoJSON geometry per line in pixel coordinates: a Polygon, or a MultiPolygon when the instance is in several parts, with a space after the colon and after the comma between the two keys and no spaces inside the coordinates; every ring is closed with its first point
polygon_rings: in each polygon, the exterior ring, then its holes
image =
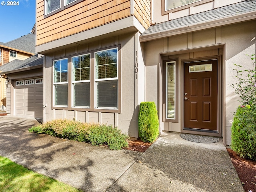
{"type": "MultiPolygon", "coordinates": [[[[91,87],[91,53],[87,53],[87,54],[80,54],[80,55],[76,55],[76,56],[72,56],[71,57],[71,107],[72,108],[90,108],[91,106],[91,88],[90,88],[90,96],[89,96],[89,106],[74,106],[74,83],[84,83],[84,82],[89,82],[90,87],[91,87]],[[80,81],[75,81],[73,80],[73,62],[72,62],[72,58],[74,57],[79,57],[79,56],[85,56],[85,55],[89,55],[90,56],[90,64],[89,64],[89,80],[80,80],[80,81]]],[[[81,69],[81,68],[80,68],[81,69]]]]}

